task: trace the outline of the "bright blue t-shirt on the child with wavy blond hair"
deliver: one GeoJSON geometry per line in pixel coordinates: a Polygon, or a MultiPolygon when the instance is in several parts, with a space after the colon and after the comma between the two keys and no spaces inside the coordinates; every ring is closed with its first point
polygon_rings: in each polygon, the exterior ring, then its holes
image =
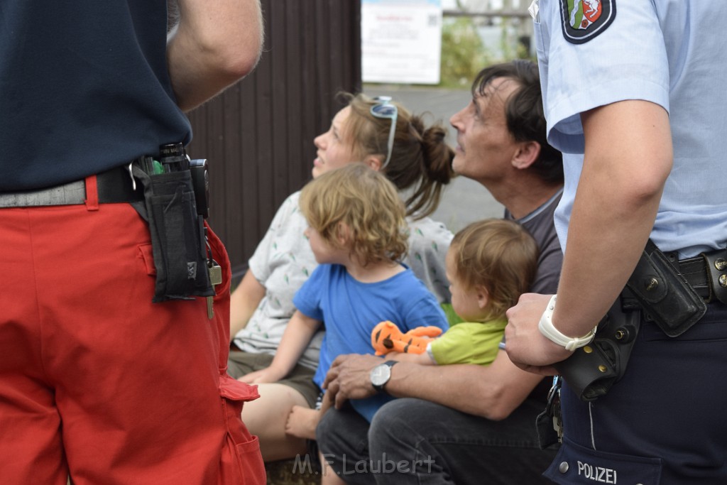
{"type": "MultiPolygon", "coordinates": [[[[409,268],[377,283],[361,283],[342,265],[319,265],[293,299],[305,316],[324,322],[326,335],[313,381],[323,385],[334,358],[346,353],[373,353],[371,330],[380,321],[393,321],[402,332],[433,325],[446,330],[446,316],[434,295],[409,268]]],[[[377,394],[354,399],[353,408],[371,421],[393,399],[377,394]]]]}

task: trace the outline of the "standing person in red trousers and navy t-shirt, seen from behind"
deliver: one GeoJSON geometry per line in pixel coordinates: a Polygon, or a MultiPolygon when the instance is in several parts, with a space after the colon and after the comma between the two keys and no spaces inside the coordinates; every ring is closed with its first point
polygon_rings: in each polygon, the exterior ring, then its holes
{"type": "Polygon", "coordinates": [[[208,229],[212,312],[204,297],[153,303],[159,261],[129,170],[188,143],[184,111],[252,71],[260,5],[178,3],[167,34],[165,0],[3,2],[3,484],[265,482],[240,420],[257,390],[226,374],[225,249],[208,229]]]}

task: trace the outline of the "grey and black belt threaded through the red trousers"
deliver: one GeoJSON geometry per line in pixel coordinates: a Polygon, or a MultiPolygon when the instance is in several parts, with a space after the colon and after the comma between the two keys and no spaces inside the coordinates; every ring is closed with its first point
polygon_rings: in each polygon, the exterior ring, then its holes
{"type": "MultiPolygon", "coordinates": [[[[134,190],[129,167],[116,167],[96,175],[100,204],[118,204],[144,200],[144,189],[134,190]]],[[[0,207],[39,207],[84,204],[86,180],[33,191],[0,192],[0,207]]]]}

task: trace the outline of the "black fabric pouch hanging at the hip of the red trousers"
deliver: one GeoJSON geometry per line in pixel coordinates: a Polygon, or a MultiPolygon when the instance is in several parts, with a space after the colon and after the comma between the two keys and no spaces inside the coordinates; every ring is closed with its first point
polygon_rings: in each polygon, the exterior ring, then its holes
{"type": "Polygon", "coordinates": [[[206,265],[204,219],[197,214],[189,170],[148,175],[134,164],[133,174],[144,185],[156,268],[152,301],[214,296],[206,265]]]}

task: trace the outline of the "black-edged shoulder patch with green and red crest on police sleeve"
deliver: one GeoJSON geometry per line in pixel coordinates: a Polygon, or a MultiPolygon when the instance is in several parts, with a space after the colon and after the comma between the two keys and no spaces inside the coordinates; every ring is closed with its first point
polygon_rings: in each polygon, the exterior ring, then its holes
{"type": "Polygon", "coordinates": [[[616,17],[616,0],[561,0],[563,36],[583,44],[608,28],[616,17]]]}

